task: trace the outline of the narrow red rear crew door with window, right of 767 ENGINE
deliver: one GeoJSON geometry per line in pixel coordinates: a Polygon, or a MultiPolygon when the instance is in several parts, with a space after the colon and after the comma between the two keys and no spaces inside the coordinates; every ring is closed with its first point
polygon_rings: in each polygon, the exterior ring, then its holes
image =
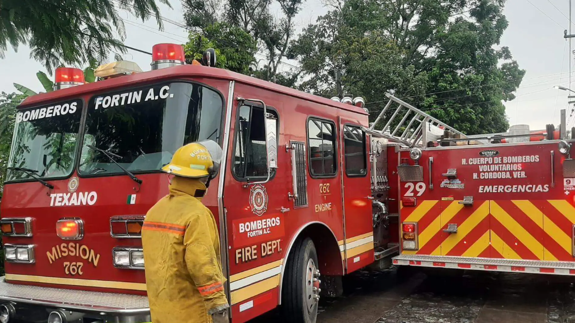
{"type": "Polygon", "coordinates": [[[356,122],[339,118],[345,259],[347,272],[374,260],[371,188],[368,174],[369,141],[356,122]]]}

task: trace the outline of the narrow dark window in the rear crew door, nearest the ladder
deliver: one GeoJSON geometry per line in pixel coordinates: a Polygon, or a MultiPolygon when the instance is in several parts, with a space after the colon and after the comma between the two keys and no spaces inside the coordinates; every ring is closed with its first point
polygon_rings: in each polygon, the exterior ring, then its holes
{"type": "Polygon", "coordinates": [[[365,133],[358,126],[343,126],[343,150],[348,176],[367,174],[365,133]]]}

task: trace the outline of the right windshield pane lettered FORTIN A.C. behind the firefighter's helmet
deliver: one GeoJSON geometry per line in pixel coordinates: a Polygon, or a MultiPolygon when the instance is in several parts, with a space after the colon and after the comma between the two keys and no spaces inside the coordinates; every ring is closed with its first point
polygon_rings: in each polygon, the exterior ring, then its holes
{"type": "Polygon", "coordinates": [[[97,95],[86,116],[79,173],[158,171],[183,144],[220,140],[223,97],[194,83],[163,83],[97,95]]]}

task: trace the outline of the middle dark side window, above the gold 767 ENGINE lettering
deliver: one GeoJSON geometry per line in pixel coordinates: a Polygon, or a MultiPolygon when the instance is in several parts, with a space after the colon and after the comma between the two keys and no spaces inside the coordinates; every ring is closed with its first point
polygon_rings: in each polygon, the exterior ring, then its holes
{"type": "Polygon", "coordinates": [[[336,174],[335,124],[310,118],[308,120],[309,168],[312,176],[336,174]]]}

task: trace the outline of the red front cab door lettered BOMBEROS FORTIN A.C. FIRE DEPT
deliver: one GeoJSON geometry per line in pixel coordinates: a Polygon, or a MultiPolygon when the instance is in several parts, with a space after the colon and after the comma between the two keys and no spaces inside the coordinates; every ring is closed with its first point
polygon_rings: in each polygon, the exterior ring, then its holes
{"type": "Polygon", "coordinates": [[[222,248],[228,251],[232,316],[240,322],[277,306],[282,252],[287,249],[285,221],[289,213],[282,210],[289,205],[289,155],[277,154],[278,145],[285,145],[282,136],[270,143],[266,128],[281,133],[282,116],[281,106],[266,103],[267,118],[255,99],[235,100],[223,186],[228,243],[222,248]]]}

